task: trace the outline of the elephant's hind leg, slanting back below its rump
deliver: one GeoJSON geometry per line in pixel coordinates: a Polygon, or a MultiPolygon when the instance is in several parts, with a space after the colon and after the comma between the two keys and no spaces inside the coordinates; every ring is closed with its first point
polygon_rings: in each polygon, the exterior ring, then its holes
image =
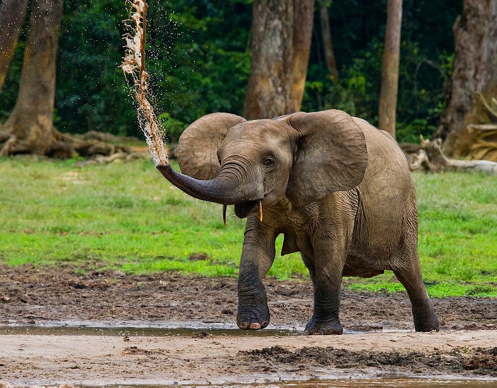
{"type": "Polygon", "coordinates": [[[421,276],[421,267],[417,254],[406,266],[394,269],[395,276],[406,288],[411,300],[416,331],[438,331],[440,324],[433,309],[421,276]]]}

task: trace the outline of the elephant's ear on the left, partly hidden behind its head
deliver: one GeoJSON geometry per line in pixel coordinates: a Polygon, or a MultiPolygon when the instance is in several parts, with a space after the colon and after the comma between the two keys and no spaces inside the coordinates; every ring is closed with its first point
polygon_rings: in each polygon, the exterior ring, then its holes
{"type": "Polygon", "coordinates": [[[231,113],[211,113],[194,121],[179,136],[176,155],[183,174],[195,179],[213,179],[219,174],[219,145],[228,129],[246,121],[231,113]]]}

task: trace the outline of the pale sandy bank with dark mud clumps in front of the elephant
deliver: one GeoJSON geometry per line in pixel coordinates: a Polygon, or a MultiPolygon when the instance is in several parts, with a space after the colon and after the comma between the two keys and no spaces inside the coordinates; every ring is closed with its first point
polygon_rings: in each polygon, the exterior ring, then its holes
{"type": "Polygon", "coordinates": [[[23,334],[0,335],[0,343],[0,376],[14,385],[262,384],[447,375],[497,384],[489,380],[497,378],[497,338],[489,330],[310,337],[23,334]]]}

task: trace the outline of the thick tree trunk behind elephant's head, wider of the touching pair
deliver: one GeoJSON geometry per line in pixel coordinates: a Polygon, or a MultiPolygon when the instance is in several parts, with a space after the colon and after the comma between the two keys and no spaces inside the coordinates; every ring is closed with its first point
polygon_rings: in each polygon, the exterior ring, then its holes
{"type": "Polygon", "coordinates": [[[293,3],[254,0],[252,61],[244,117],[268,119],[294,111],[293,3]]]}

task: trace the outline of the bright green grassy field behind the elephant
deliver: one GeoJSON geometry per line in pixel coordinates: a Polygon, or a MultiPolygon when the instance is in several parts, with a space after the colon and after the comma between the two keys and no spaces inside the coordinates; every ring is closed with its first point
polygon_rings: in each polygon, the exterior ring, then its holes
{"type": "MultiPolygon", "coordinates": [[[[0,261],[236,276],[245,220],[230,216],[224,227],[221,205],[181,193],[149,161],[74,163],[0,160],[0,261]]],[[[417,173],[414,181],[429,294],[496,297],[497,178],[417,173]]],[[[281,236],[277,244],[279,252],[281,236]]],[[[277,255],[269,275],[308,276],[298,254],[277,255]]],[[[344,284],[404,290],[391,272],[344,284]]]]}

